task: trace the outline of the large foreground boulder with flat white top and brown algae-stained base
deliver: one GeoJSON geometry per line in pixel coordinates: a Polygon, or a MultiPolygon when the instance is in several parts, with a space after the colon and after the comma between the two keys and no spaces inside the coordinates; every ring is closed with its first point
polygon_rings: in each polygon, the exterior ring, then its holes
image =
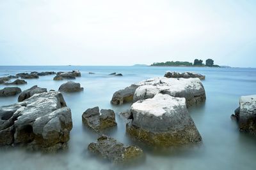
{"type": "Polygon", "coordinates": [[[156,94],[152,99],[133,103],[132,120],[126,132],[140,141],[155,146],[199,143],[202,138],[186,108],[186,99],[156,94]]]}

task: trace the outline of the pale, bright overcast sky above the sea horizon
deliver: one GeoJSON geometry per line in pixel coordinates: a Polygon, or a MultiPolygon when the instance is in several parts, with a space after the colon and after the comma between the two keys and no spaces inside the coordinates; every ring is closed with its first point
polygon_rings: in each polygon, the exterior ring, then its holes
{"type": "Polygon", "coordinates": [[[0,0],[0,65],[256,67],[256,1],[0,0]]]}

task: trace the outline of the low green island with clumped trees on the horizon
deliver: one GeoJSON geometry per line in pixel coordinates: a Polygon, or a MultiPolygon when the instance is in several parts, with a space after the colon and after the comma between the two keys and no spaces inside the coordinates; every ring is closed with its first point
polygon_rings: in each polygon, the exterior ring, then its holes
{"type": "Polygon", "coordinates": [[[220,67],[214,64],[214,60],[207,59],[205,64],[203,60],[195,59],[194,63],[188,61],[166,61],[166,62],[154,62],[150,66],[179,66],[179,67],[220,67]]]}

